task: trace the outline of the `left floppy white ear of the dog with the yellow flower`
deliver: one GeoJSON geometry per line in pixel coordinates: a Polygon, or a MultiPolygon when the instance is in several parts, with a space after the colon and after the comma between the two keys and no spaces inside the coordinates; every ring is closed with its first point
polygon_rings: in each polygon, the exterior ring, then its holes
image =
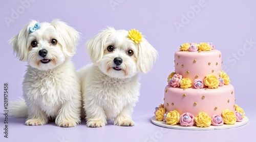
{"type": "Polygon", "coordinates": [[[103,57],[104,46],[108,37],[110,37],[115,29],[108,27],[103,30],[87,43],[87,52],[90,55],[90,59],[93,63],[97,63],[103,57]]]}

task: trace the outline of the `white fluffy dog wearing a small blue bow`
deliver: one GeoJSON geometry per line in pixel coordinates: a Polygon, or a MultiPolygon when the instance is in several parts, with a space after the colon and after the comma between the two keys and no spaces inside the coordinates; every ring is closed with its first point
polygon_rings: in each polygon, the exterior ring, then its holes
{"type": "Polygon", "coordinates": [[[55,119],[60,127],[80,123],[81,93],[71,57],[79,33],[60,20],[32,20],[10,42],[20,61],[27,61],[24,99],[11,102],[14,117],[27,117],[26,125],[44,125],[55,119]]]}

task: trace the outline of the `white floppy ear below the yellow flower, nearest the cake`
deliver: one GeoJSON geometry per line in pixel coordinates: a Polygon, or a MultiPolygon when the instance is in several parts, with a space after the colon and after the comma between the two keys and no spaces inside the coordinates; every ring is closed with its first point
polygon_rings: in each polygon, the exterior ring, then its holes
{"type": "Polygon", "coordinates": [[[142,38],[142,41],[137,46],[139,51],[137,68],[140,72],[147,73],[156,62],[158,52],[145,38],[142,38]]]}

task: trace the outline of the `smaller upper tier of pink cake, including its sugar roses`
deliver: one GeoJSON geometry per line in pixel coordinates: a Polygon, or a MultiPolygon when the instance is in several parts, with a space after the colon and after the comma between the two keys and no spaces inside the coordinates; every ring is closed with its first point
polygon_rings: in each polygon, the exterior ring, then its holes
{"type": "Polygon", "coordinates": [[[167,79],[172,87],[216,89],[230,82],[221,68],[221,51],[212,43],[184,43],[174,59],[175,71],[167,79]]]}

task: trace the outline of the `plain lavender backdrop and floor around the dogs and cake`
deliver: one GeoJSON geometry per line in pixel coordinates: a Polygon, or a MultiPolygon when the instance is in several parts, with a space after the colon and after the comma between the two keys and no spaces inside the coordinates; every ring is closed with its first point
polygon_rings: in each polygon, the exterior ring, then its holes
{"type": "Polygon", "coordinates": [[[115,29],[138,29],[159,52],[153,70],[141,74],[141,95],[134,108],[134,127],[119,127],[109,122],[103,128],[88,128],[84,121],[74,128],[60,128],[54,123],[25,126],[25,118],[9,117],[9,138],[5,138],[2,94],[1,141],[254,141],[255,6],[253,0],[0,0],[0,82],[1,88],[4,82],[9,83],[9,101],[22,96],[27,63],[15,58],[8,40],[31,19],[48,22],[54,18],[62,19],[82,33],[77,54],[72,58],[77,69],[90,63],[84,46],[86,41],[107,25],[115,29]],[[174,53],[185,42],[212,42],[221,50],[223,70],[235,87],[237,104],[249,118],[247,125],[228,130],[184,131],[161,128],[150,122],[154,107],[163,103],[166,78],[174,71],[174,53]]]}

